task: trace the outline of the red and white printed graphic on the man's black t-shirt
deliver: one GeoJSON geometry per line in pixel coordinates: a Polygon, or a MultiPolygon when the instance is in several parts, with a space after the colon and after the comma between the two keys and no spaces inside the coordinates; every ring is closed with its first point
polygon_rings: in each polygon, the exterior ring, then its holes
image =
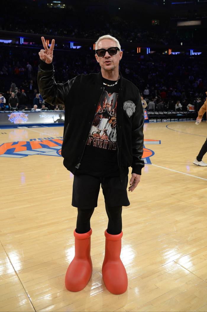
{"type": "Polygon", "coordinates": [[[116,115],[118,93],[103,91],[91,126],[87,145],[100,149],[116,150],[116,115]]]}

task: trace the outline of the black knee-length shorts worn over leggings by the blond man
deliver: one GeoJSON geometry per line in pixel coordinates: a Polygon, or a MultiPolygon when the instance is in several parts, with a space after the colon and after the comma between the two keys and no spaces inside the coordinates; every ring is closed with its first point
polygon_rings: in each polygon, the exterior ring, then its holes
{"type": "Polygon", "coordinates": [[[100,185],[108,207],[129,206],[127,194],[128,175],[119,177],[94,177],[74,175],[72,206],[91,209],[97,207],[100,185]]]}

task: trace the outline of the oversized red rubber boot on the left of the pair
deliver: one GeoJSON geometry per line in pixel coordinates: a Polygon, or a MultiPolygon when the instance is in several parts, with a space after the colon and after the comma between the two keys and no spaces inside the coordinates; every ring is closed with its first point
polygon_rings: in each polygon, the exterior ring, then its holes
{"type": "Polygon", "coordinates": [[[76,233],[74,230],[73,234],[75,236],[75,257],[67,269],[65,287],[70,291],[80,291],[88,284],[93,271],[90,256],[92,229],[90,228],[89,232],[83,234],[76,233]]]}

